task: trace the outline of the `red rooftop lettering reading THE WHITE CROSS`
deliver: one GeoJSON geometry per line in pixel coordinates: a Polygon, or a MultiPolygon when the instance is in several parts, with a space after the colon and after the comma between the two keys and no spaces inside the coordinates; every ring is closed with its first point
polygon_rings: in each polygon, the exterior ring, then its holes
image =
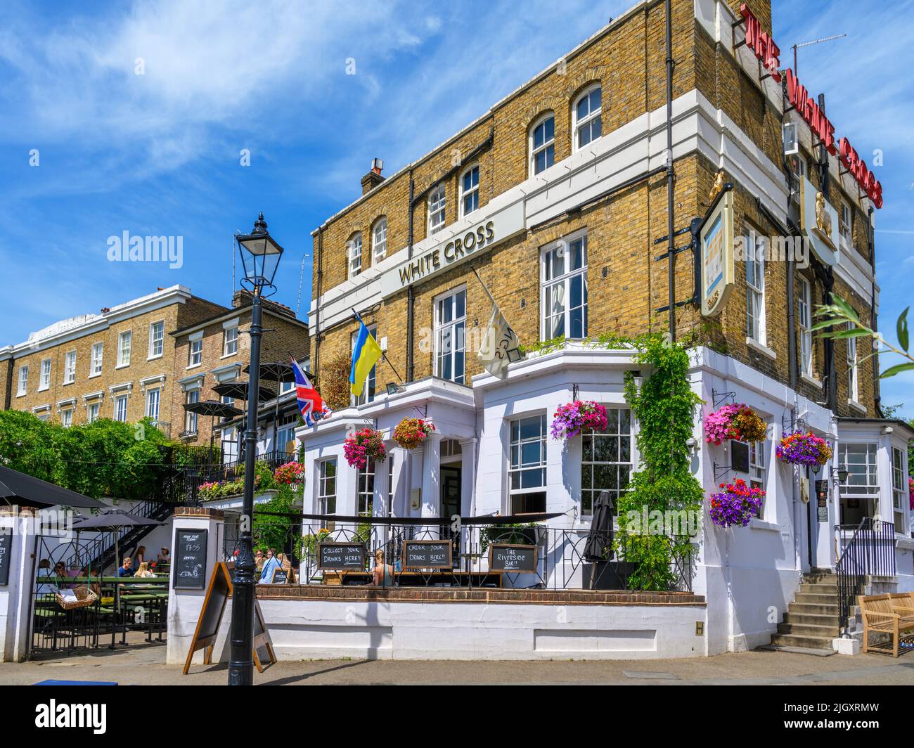
{"type": "MultiPolygon", "coordinates": [[[[761,30],[759,19],[745,3],[739,6],[739,15],[746,24],[746,46],[761,60],[761,64],[771,73],[771,78],[780,83],[781,72],[778,68],[781,65],[781,49],[774,43],[774,39],[761,30]]],[[[834,124],[825,116],[822,107],[809,95],[809,91],[790,68],[787,69],[787,98],[828,152],[841,158],[841,163],[854,176],[856,183],[873,201],[873,205],[882,208],[882,184],[866,166],[866,161],[857,155],[847,138],[841,138],[835,143],[834,124]]]]}

